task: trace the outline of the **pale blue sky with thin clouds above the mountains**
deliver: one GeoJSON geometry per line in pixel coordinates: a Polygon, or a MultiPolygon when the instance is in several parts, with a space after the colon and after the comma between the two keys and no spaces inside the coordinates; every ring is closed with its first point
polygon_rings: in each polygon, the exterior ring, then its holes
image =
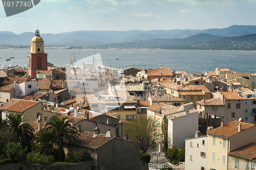
{"type": "Polygon", "coordinates": [[[6,17],[1,3],[0,31],[226,28],[256,25],[255,7],[256,0],[41,0],[25,12],[6,17]]]}

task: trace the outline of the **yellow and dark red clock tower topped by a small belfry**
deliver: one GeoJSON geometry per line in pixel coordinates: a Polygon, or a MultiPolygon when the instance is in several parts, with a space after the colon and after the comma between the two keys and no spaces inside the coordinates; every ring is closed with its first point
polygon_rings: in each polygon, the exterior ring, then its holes
{"type": "Polygon", "coordinates": [[[39,36],[39,30],[35,31],[35,36],[31,40],[29,53],[29,75],[36,77],[37,70],[47,70],[47,53],[45,53],[44,40],[39,36]]]}

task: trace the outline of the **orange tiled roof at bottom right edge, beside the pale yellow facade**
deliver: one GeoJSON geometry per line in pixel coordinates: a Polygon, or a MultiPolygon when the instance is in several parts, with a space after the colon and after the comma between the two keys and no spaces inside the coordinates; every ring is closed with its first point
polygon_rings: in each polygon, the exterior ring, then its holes
{"type": "Polygon", "coordinates": [[[256,143],[248,144],[244,147],[238,148],[229,154],[241,156],[248,159],[256,159],[256,143]]]}

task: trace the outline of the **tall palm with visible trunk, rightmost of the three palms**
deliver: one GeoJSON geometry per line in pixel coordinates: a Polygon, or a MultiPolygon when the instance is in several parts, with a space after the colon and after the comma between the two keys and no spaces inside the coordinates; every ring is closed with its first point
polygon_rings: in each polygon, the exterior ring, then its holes
{"type": "Polygon", "coordinates": [[[46,123],[46,126],[49,125],[47,129],[56,135],[55,140],[59,148],[58,161],[60,162],[63,161],[65,154],[63,150],[64,142],[77,142],[78,136],[80,136],[76,128],[72,127],[72,122],[74,122],[73,119],[68,120],[68,116],[66,116],[64,118],[52,118],[52,121],[46,123]]]}

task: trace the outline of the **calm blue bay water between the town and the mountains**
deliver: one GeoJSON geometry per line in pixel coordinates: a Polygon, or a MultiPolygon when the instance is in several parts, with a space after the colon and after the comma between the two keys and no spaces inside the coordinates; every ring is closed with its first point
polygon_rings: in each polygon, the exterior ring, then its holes
{"type": "MultiPolygon", "coordinates": [[[[30,50],[0,49],[0,65],[28,65],[30,50]]],[[[70,55],[75,53],[77,60],[100,53],[106,66],[115,68],[159,68],[169,67],[171,70],[185,70],[188,73],[204,73],[215,71],[216,67],[229,68],[231,71],[256,73],[256,51],[204,51],[204,50],[45,50],[48,62],[55,66],[67,66],[70,55]],[[78,51],[79,53],[76,53],[78,51]],[[118,56],[118,60],[116,60],[118,56]]]]}

